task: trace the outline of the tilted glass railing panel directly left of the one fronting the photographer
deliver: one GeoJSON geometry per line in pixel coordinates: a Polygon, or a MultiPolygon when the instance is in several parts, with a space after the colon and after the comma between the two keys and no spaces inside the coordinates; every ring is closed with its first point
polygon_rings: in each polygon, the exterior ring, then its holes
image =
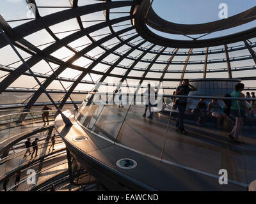
{"type": "Polygon", "coordinates": [[[152,112],[152,119],[148,119],[149,112],[147,111],[146,115],[144,113],[145,105],[131,105],[116,143],[160,159],[168,115],[152,112]]]}

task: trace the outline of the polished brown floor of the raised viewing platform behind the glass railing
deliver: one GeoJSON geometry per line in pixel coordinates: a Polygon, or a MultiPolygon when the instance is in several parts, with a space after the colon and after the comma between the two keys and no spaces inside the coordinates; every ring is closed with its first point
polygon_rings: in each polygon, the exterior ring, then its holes
{"type": "MultiPolygon", "coordinates": [[[[225,169],[228,180],[238,186],[246,186],[255,180],[256,136],[252,135],[252,128],[250,131],[244,128],[246,143],[241,145],[232,142],[223,129],[211,125],[196,126],[191,121],[185,121],[188,133],[179,133],[175,130],[175,119],[168,123],[168,115],[159,112],[154,113],[153,119],[148,119],[142,116],[144,109],[144,106],[134,105],[124,108],[108,105],[100,106],[100,109],[93,106],[85,119],[91,126],[86,128],[118,146],[179,169],[215,179],[220,177],[219,171],[225,169]]],[[[109,144],[101,145],[89,148],[90,152],[103,150],[109,144]]],[[[83,145],[79,148],[83,149],[83,145]]]]}

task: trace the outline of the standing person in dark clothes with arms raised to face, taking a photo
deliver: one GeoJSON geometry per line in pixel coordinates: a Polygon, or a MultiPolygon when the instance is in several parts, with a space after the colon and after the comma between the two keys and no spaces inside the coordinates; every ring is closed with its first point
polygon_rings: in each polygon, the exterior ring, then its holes
{"type": "MultiPolygon", "coordinates": [[[[177,87],[176,95],[188,96],[190,91],[197,91],[197,89],[196,87],[193,87],[193,85],[189,84],[188,79],[185,79],[183,80],[182,85],[177,87]]],[[[183,120],[187,106],[187,98],[177,98],[176,105],[179,109],[179,119],[177,120],[176,128],[179,128],[180,133],[186,133],[187,131],[184,129],[183,120]]]]}

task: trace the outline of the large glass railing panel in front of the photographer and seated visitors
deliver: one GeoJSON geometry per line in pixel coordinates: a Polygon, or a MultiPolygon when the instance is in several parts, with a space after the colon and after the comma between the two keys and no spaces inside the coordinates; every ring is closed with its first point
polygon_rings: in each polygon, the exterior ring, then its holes
{"type": "MultiPolygon", "coordinates": [[[[196,107],[191,109],[187,106],[184,113],[186,132],[176,128],[177,120],[180,118],[180,107],[175,110],[169,109],[172,112],[172,117],[170,117],[166,134],[162,161],[210,175],[216,179],[221,176],[220,171],[227,170],[230,182],[246,186],[248,184],[246,163],[250,163],[248,166],[250,166],[251,172],[256,167],[256,163],[252,161],[252,152],[256,152],[252,139],[254,137],[253,122],[250,123],[249,119],[246,119],[245,115],[240,112],[237,115],[230,113],[227,106],[220,105],[223,103],[221,99],[214,102],[219,104],[220,109],[211,109],[210,112],[209,103],[207,100],[205,102],[207,102],[205,110],[196,107]],[[241,138],[243,136],[245,144],[237,143],[230,138],[230,133],[236,126],[238,127],[237,131],[241,129],[238,135],[241,135],[241,138]]],[[[253,180],[253,176],[251,180],[253,180]]]]}

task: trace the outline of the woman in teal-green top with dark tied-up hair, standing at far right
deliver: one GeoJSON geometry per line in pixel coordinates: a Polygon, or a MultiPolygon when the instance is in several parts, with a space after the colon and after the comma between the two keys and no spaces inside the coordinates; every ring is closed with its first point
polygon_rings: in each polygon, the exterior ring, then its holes
{"type": "MultiPolygon", "coordinates": [[[[233,91],[230,96],[232,98],[244,98],[244,94],[242,91],[244,90],[244,84],[238,83],[236,84],[235,91],[233,91]]],[[[231,113],[236,117],[236,125],[232,129],[231,133],[228,135],[234,142],[244,143],[241,140],[241,129],[243,126],[243,120],[245,116],[245,112],[248,112],[248,108],[246,106],[245,101],[243,100],[232,100],[231,103],[231,113]]],[[[249,114],[248,114],[249,115],[249,114]]]]}

